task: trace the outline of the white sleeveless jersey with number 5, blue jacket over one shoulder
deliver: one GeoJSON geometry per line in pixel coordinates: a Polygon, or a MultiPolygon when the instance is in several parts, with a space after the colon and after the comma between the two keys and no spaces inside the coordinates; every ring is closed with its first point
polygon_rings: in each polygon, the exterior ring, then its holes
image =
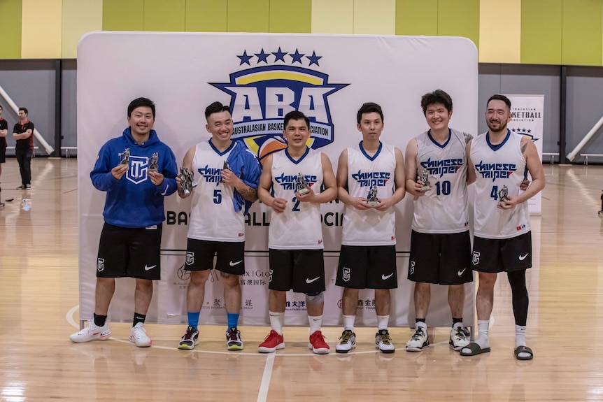
{"type": "Polygon", "coordinates": [[[245,241],[243,210],[233,207],[234,187],[222,183],[224,161],[235,143],[219,152],[209,141],[198,143],[192,159],[194,180],[188,238],[206,241],[245,241]]]}

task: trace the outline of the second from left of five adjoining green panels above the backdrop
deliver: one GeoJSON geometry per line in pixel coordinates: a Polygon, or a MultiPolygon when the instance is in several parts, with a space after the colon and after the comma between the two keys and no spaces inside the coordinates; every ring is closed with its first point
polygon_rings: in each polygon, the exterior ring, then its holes
{"type": "Polygon", "coordinates": [[[145,31],[182,32],[185,29],[186,0],[145,0],[145,31]]]}

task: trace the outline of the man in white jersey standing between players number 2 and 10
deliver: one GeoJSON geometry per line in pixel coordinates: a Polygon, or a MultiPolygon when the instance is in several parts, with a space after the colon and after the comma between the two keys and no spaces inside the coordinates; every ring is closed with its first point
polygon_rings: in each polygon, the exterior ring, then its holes
{"type": "Polygon", "coordinates": [[[390,289],[398,286],[395,205],[405,194],[404,157],[398,148],[379,140],[383,131],[381,106],[364,103],[356,121],[362,141],[343,150],[337,165],[339,200],[346,204],[346,213],[335,281],[344,287],[343,333],[335,350],[348,353],[356,347],[358,293],[360,289],[375,289],[375,346],[383,353],[393,353],[388,322],[390,289]]]}

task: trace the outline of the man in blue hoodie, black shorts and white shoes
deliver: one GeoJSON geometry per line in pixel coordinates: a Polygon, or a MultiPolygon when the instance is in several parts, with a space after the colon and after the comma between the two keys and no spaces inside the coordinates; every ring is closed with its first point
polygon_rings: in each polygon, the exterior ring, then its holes
{"type": "Polygon", "coordinates": [[[152,298],[152,281],[161,278],[160,251],[164,197],[176,192],[178,164],[171,149],[152,129],[155,103],[134,99],[128,106],[129,127],[122,136],[105,143],[90,178],[106,192],[97,259],[94,321],[71,334],[73,342],[106,340],[111,336],[107,322],[115,292],[115,278],[136,278],[134,322],[129,340],[138,347],[151,345],[144,329],[152,298]],[[150,160],[157,156],[157,169],[150,160]]]}

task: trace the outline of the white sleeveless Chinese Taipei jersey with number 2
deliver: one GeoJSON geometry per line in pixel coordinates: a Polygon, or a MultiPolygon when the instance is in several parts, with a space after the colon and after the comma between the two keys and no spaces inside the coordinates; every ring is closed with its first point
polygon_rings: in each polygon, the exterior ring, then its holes
{"type": "Polygon", "coordinates": [[[272,211],[268,231],[268,247],[280,250],[322,249],[322,222],[320,204],[297,201],[297,175],[315,194],[322,187],[322,159],[320,152],[308,148],[297,161],[287,150],[272,157],[272,188],[274,198],[287,200],[283,213],[272,211]]]}

